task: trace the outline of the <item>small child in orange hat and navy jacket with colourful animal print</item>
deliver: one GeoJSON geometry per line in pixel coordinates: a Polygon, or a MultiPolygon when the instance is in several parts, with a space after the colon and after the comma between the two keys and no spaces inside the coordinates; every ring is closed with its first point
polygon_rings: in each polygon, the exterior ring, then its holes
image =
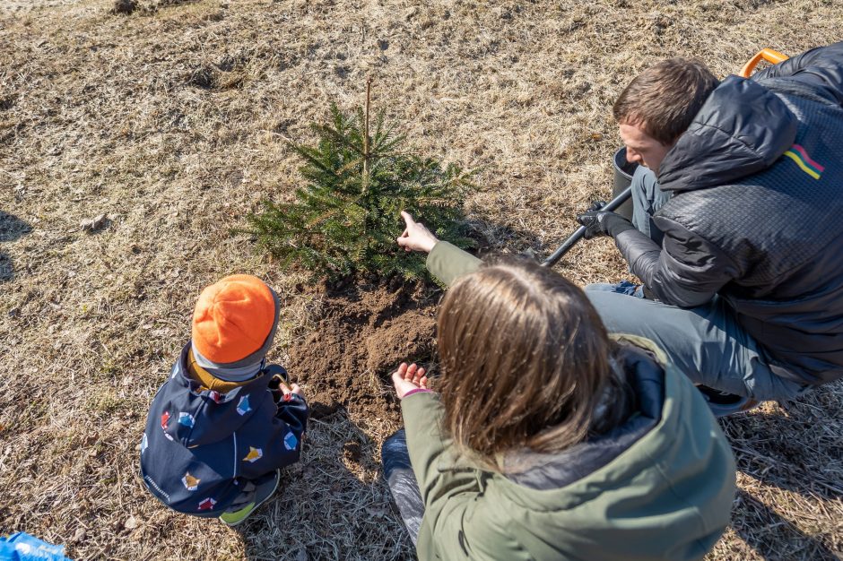
{"type": "Polygon", "coordinates": [[[152,401],[141,474],[181,513],[234,526],[273,495],[299,460],[308,406],[286,371],[265,366],[278,325],[273,289],[232,275],[203,290],[192,339],[152,401]]]}

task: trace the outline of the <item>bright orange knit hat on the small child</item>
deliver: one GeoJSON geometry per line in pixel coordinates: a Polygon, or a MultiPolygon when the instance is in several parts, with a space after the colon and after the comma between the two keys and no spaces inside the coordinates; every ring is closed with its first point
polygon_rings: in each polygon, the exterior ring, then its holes
{"type": "Polygon", "coordinates": [[[219,367],[260,361],[278,325],[278,298],[252,275],[226,277],[202,291],[193,313],[193,345],[219,367]]]}

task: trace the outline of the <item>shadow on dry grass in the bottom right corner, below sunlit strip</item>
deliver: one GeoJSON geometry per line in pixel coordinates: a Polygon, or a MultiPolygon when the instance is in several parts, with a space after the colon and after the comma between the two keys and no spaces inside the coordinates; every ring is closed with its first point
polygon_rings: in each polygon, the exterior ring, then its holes
{"type": "Polygon", "coordinates": [[[743,489],[738,490],[734,509],[740,511],[741,516],[733,522],[733,530],[768,561],[839,560],[837,554],[819,539],[799,530],[793,522],[743,489]]]}

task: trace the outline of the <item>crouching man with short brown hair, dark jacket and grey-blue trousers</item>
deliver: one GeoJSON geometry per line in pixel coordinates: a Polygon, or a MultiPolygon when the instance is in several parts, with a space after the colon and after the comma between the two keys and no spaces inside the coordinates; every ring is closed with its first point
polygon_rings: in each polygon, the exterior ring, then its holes
{"type": "MultiPolygon", "coordinates": [[[[843,43],[751,80],[664,61],[613,113],[627,159],[645,167],[634,225],[608,211],[578,220],[588,237],[614,238],[653,299],[587,287],[606,327],[743,398],[713,396],[721,412],[843,376],[843,43]]],[[[408,222],[399,244],[413,247],[412,233],[408,222]]]]}

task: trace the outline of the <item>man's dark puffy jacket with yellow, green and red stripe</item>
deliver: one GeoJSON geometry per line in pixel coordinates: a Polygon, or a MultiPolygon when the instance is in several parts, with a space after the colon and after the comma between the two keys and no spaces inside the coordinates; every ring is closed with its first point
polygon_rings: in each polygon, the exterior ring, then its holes
{"type": "Polygon", "coordinates": [[[725,298],[779,375],[843,376],[843,43],[726,78],[658,181],[663,246],[615,239],[632,272],[667,304],[725,298]]]}

